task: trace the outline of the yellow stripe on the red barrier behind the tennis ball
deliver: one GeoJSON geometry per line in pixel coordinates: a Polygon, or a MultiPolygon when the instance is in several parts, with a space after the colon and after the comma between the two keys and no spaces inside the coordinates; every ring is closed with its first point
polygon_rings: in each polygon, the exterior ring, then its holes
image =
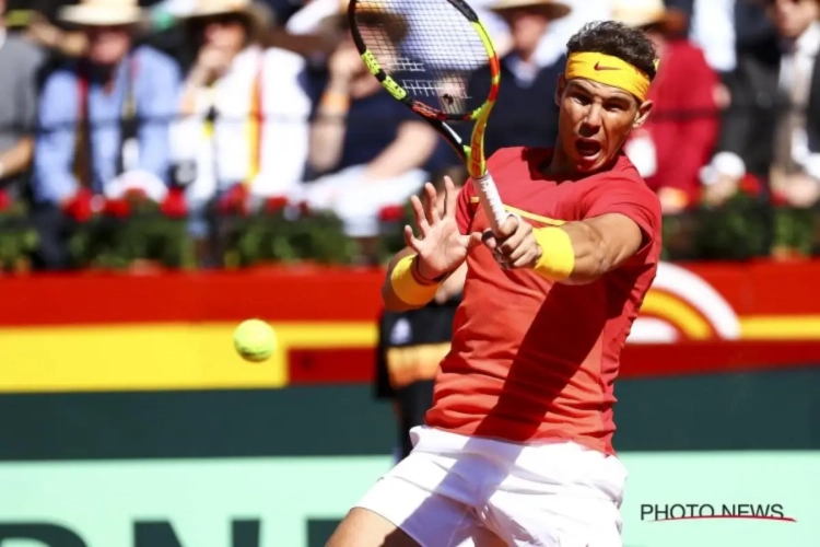
{"type": "Polygon", "coordinates": [[[0,329],[0,393],[282,387],[290,348],[374,347],[374,323],[273,324],[263,363],[233,349],[235,324],[0,329]]]}

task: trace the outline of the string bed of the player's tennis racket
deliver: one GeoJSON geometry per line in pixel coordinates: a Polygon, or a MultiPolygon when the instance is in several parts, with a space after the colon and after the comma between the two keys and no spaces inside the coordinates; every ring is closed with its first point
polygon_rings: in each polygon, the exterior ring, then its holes
{"type": "Polygon", "coordinates": [[[490,90],[487,48],[447,0],[359,0],[355,26],[408,96],[448,116],[480,107],[490,90]]]}

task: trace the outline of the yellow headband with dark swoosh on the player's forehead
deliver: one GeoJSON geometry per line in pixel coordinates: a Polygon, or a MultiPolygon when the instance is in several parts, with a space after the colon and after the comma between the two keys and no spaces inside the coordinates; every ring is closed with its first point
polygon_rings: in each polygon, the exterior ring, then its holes
{"type": "Polygon", "coordinates": [[[641,102],[646,101],[649,91],[648,75],[633,65],[610,55],[587,51],[572,54],[566,59],[565,75],[567,80],[583,78],[618,88],[632,93],[641,102]]]}

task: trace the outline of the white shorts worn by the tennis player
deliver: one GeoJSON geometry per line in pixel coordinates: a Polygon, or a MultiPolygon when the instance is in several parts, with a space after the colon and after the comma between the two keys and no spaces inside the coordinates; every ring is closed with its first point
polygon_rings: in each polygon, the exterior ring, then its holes
{"type": "Polygon", "coordinates": [[[525,446],[419,427],[413,452],[355,507],[422,547],[621,547],[626,469],[572,442],[525,446]],[[490,534],[492,533],[492,534],[490,534]]]}

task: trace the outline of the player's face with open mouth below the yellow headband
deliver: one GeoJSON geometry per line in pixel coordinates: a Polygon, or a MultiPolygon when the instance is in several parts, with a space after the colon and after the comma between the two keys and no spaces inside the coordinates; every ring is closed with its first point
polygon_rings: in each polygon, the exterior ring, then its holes
{"type": "Polygon", "coordinates": [[[652,102],[589,80],[559,79],[559,146],[581,173],[605,167],[618,155],[630,131],[644,124],[652,102]]]}

